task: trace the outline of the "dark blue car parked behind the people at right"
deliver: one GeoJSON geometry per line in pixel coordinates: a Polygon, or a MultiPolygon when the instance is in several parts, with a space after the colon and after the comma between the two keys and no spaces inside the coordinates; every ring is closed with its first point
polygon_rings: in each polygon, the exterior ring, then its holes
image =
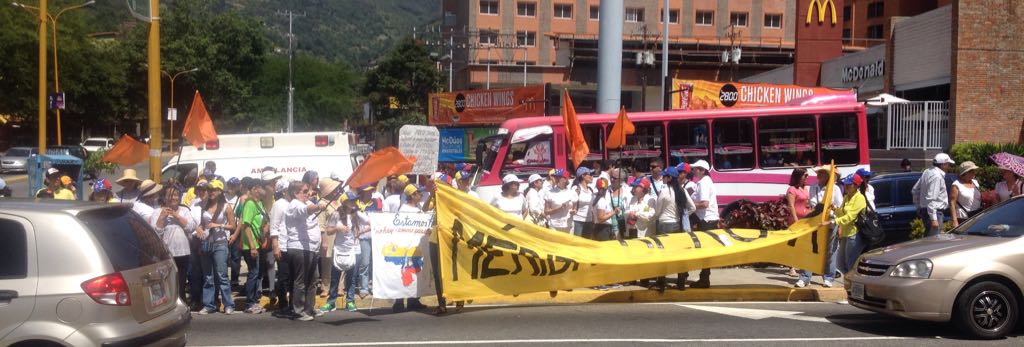
{"type": "MultiPolygon", "coordinates": [[[[918,218],[918,208],[913,205],[913,194],[910,190],[918,183],[921,174],[921,172],[906,172],[871,177],[870,183],[874,187],[874,210],[879,213],[882,229],[886,231],[886,238],[876,247],[910,240],[910,222],[918,218]]],[[[946,175],[947,189],[954,180],[956,180],[955,174],[946,175]]]]}

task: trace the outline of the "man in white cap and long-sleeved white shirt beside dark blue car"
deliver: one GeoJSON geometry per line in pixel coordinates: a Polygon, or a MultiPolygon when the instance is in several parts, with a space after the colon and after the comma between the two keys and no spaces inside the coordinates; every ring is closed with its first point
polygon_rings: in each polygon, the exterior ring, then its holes
{"type": "Polygon", "coordinates": [[[913,205],[918,207],[918,216],[925,222],[925,236],[939,234],[942,231],[942,213],[949,208],[949,194],[946,192],[946,173],[953,162],[949,155],[940,153],[932,162],[933,167],[913,184],[910,193],[913,205]]]}

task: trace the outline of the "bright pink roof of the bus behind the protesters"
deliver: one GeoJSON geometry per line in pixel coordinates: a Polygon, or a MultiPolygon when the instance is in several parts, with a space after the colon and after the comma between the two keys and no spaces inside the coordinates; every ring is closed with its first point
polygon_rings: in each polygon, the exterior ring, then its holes
{"type": "MultiPolygon", "coordinates": [[[[783,105],[739,109],[712,109],[686,111],[660,111],[630,113],[632,122],[652,122],[669,120],[707,120],[719,118],[752,117],[752,116],[783,116],[783,115],[814,115],[821,113],[859,113],[864,104],[856,101],[838,102],[814,105],[783,105]]],[[[577,118],[582,124],[614,123],[617,114],[581,114],[577,118]]],[[[542,125],[561,125],[561,117],[525,117],[516,118],[502,123],[502,128],[509,131],[530,128],[542,125]]]]}

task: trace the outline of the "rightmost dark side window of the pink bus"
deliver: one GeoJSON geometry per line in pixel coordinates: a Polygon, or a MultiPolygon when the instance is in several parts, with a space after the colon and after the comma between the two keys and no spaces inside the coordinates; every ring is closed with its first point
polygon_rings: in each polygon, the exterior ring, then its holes
{"type": "Polygon", "coordinates": [[[821,115],[821,163],[835,160],[836,165],[860,164],[860,145],[857,142],[857,115],[821,115]]]}

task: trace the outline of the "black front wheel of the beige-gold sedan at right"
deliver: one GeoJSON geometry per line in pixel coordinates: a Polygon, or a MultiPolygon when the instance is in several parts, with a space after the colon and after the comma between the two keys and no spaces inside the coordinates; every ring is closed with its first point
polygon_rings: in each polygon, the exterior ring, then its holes
{"type": "Polygon", "coordinates": [[[976,338],[999,339],[1017,327],[1018,308],[1017,298],[1007,286],[982,281],[956,298],[953,323],[976,338]]]}

